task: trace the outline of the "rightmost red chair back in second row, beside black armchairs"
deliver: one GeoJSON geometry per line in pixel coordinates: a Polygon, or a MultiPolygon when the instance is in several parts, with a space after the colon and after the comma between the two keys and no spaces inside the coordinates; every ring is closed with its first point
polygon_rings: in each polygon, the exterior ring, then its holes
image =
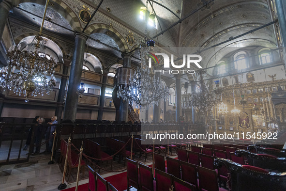
{"type": "Polygon", "coordinates": [[[217,175],[214,170],[198,166],[197,172],[200,190],[219,191],[217,175]]]}

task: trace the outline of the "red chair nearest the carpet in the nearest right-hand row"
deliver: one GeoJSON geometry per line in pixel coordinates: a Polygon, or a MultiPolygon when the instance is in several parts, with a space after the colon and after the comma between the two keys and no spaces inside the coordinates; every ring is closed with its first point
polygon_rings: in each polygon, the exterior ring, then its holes
{"type": "Polygon", "coordinates": [[[135,189],[139,189],[139,177],[138,177],[138,162],[128,159],[127,160],[127,191],[129,191],[130,186],[135,189]]]}

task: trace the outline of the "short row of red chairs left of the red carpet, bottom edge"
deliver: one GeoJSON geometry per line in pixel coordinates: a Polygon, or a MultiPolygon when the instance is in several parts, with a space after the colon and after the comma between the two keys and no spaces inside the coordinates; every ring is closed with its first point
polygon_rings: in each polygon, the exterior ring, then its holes
{"type": "Polygon", "coordinates": [[[89,165],[89,191],[117,191],[110,182],[96,173],[89,165]]]}

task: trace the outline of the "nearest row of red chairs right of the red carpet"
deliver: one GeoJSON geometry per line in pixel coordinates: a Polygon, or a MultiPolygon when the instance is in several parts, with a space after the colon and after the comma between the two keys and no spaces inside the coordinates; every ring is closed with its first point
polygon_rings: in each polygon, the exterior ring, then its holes
{"type": "Polygon", "coordinates": [[[134,187],[139,191],[196,191],[196,187],[180,178],[155,168],[127,159],[127,191],[134,187]]]}

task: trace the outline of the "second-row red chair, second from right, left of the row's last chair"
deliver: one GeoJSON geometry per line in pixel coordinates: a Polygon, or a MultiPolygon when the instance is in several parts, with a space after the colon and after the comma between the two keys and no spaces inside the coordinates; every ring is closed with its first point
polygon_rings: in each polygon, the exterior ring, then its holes
{"type": "Polygon", "coordinates": [[[181,179],[195,185],[198,189],[196,165],[181,161],[181,179]]]}

